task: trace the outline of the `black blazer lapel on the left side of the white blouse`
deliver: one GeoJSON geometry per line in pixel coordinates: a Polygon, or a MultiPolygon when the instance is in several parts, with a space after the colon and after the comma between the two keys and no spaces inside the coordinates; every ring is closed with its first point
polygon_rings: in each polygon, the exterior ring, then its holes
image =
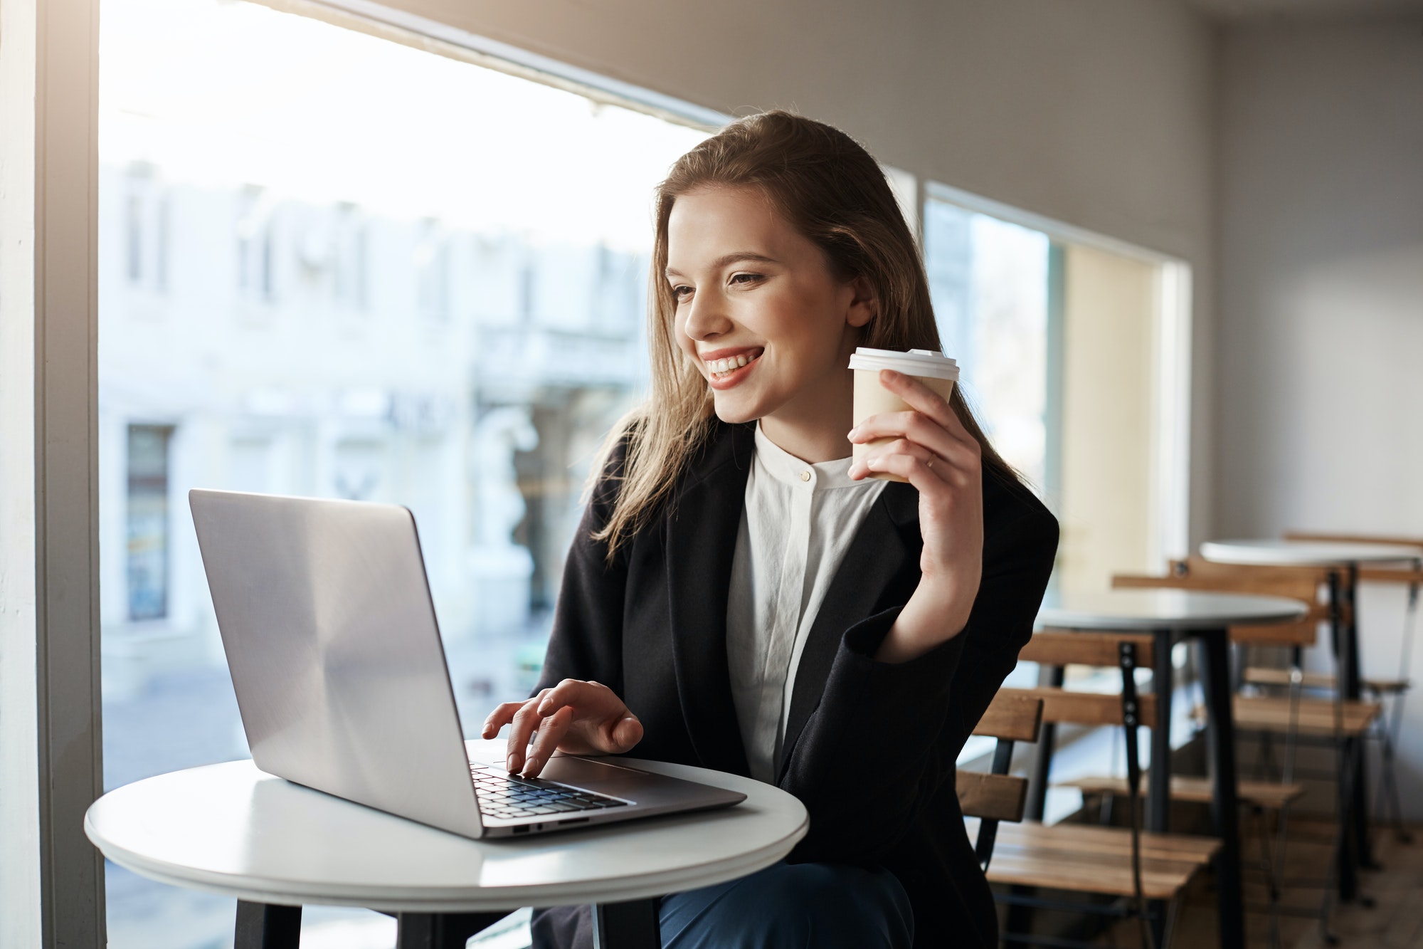
{"type": "Polygon", "coordinates": [[[726,600],[756,440],[754,426],[714,425],[666,520],[672,661],[699,762],[747,775],[726,658],[726,600]]]}

